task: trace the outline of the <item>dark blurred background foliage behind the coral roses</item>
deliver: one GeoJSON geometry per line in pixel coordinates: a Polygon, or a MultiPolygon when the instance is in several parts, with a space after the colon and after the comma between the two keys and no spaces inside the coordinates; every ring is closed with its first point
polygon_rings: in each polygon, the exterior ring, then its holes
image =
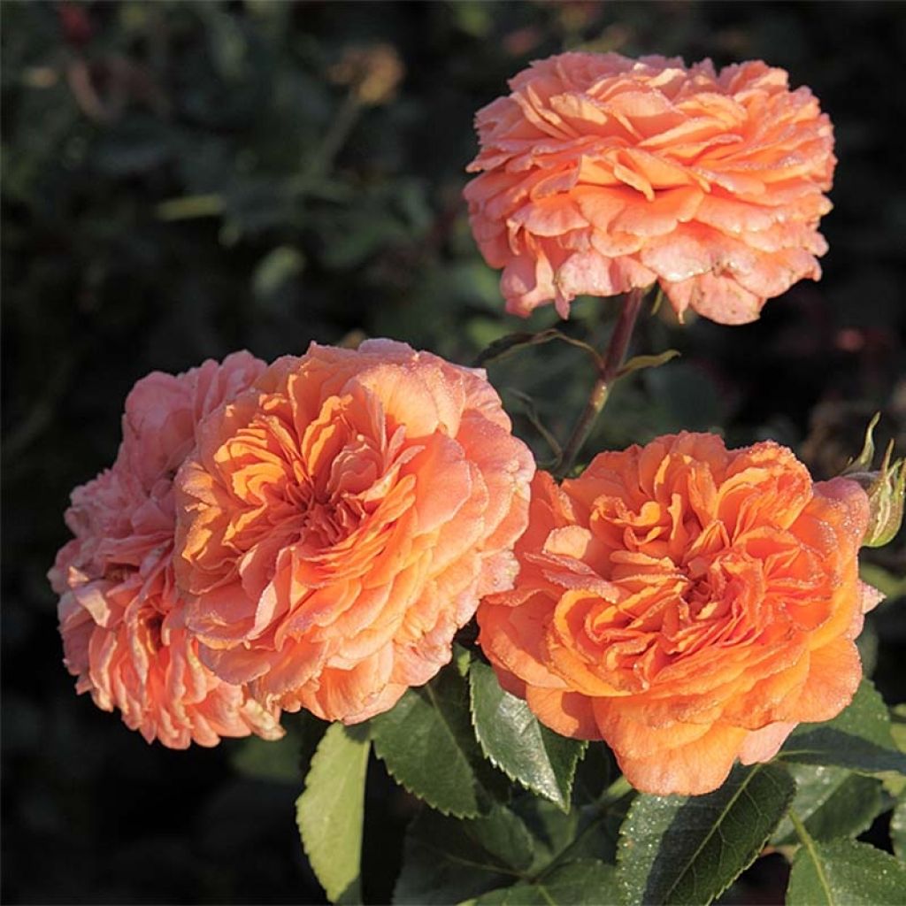
{"type": "MultiPolygon", "coordinates": [[[[644,317],[635,351],[682,357],[619,386],[589,449],[718,429],[789,444],[829,477],[875,410],[879,439],[904,440],[901,4],[6,0],[0,14],[7,902],[321,901],[294,828],[297,749],[149,747],[77,699],[44,575],[69,491],[111,462],[148,371],[365,335],[470,363],[555,323],[502,314],[460,197],[474,112],[530,60],[763,58],[836,128],[824,280],[744,328],[644,317]]],[[[583,300],[564,330],[600,346],[612,313],[583,300]]],[[[533,419],[564,439],[591,384],[583,353],[553,343],[489,373],[547,458],[533,419]]],[[[902,701],[902,540],[870,557],[890,600],[866,664],[902,701]]],[[[370,795],[365,893],[387,901],[413,805],[380,770],[370,795]]],[[[782,872],[757,863],[728,901],[779,901],[782,872]]]]}

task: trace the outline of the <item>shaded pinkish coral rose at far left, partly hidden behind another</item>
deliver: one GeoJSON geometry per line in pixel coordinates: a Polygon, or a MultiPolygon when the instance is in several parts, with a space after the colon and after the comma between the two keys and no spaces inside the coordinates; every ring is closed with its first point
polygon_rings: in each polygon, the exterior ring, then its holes
{"type": "Polygon", "coordinates": [[[149,742],[215,746],[220,737],[283,735],[275,711],[198,660],[173,576],[173,477],[198,420],[265,368],[247,352],[180,374],[154,372],[126,400],[116,462],[72,492],[75,535],[49,573],[61,595],[65,663],[76,689],[119,708],[149,742]]]}

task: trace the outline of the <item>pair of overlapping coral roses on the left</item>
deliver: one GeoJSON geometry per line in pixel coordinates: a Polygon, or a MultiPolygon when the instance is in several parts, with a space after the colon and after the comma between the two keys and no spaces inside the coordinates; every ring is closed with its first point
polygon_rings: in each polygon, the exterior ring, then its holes
{"type": "Polygon", "coordinates": [[[170,747],[386,710],[512,586],[534,471],[483,372],[402,343],[151,374],[51,571],[77,689],[170,747]]]}

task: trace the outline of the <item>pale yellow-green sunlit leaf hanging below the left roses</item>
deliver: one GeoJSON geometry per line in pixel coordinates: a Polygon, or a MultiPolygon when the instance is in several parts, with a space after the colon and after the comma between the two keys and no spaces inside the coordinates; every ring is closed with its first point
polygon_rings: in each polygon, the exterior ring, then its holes
{"type": "Polygon", "coordinates": [[[369,742],[364,727],[333,724],[295,803],[312,869],[332,902],[361,900],[361,834],[369,742]]]}

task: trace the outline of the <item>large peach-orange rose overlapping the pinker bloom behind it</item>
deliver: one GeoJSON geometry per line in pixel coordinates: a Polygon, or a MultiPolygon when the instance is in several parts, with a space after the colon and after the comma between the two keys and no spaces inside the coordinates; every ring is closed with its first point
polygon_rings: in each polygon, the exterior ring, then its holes
{"type": "Polygon", "coordinates": [[[534,471],[482,371],[388,340],[276,361],[177,478],[202,660],[265,705],[387,710],[512,587],[534,471]]]}

